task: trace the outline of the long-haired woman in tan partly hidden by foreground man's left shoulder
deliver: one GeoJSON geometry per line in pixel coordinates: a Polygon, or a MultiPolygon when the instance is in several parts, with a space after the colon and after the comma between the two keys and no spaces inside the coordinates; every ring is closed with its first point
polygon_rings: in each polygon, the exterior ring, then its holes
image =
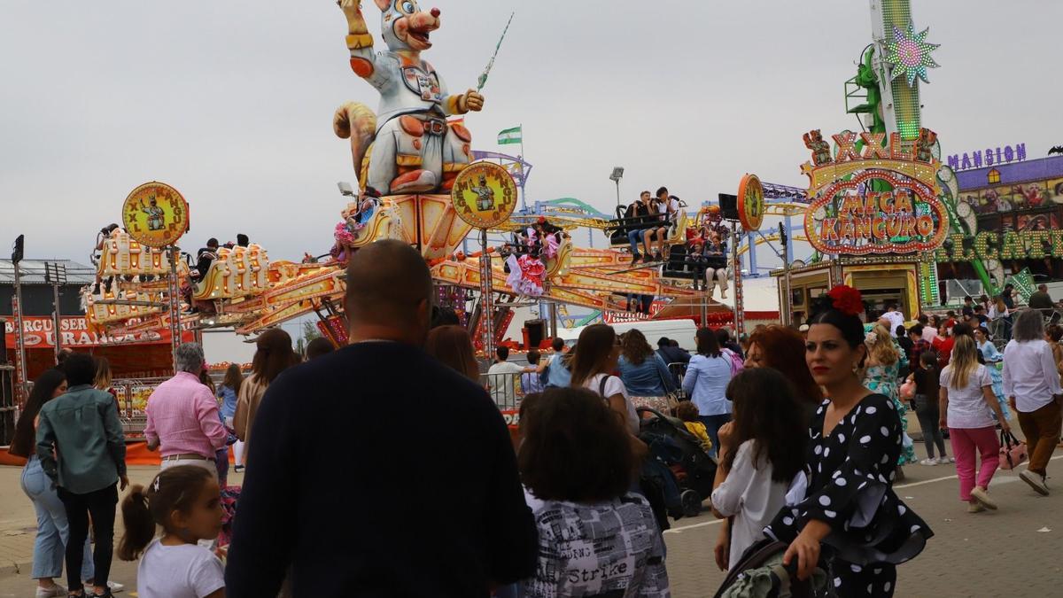
{"type": "Polygon", "coordinates": [[[280,328],[271,328],[255,340],[255,356],[251,360],[251,376],[240,384],[233,418],[236,437],[243,441],[244,452],[251,451],[251,429],[258,411],[258,403],[270,383],[281,372],[300,362],[299,353],[291,348],[291,336],[280,328]]]}

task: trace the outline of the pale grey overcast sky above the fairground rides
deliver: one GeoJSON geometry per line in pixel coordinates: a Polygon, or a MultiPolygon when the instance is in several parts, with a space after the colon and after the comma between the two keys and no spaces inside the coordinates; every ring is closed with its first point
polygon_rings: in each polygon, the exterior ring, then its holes
{"type": "MultiPolygon", "coordinates": [[[[923,102],[944,153],[1063,145],[1063,3],[913,4],[942,45],[923,102]]],[[[614,165],[627,168],[625,201],[663,184],[697,203],[747,171],[804,185],[800,134],[857,128],[843,83],[871,40],[865,1],[437,5],[425,57],[452,92],[475,84],[518,11],[467,124],[474,147],[512,150],[495,135],[523,123],[533,199],[611,210],[614,165]]],[[[333,112],[377,103],[348,66],[333,1],[2,0],[0,33],[0,254],[24,233],[27,256],[87,262],[96,231],[150,180],[188,199],[186,249],[237,232],[274,260],[328,249],[336,182],[354,179],[333,112]]]]}

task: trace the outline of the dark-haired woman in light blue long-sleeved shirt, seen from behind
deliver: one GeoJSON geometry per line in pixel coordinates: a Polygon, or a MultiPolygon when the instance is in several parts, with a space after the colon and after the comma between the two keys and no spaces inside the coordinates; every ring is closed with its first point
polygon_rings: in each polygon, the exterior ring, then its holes
{"type": "Polygon", "coordinates": [[[727,384],[731,377],[731,361],[720,349],[716,334],[708,328],[697,330],[697,354],[690,358],[682,391],[697,405],[698,416],[712,441],[712,453],[720,450],[720,428],[730,421],[727,384]]]}

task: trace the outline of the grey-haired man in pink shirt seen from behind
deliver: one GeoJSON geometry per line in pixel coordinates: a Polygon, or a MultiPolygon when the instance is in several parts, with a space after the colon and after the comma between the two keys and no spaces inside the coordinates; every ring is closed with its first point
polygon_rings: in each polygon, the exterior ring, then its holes
{"type": "Polygon", "coordinates": [[[203,348],[196,343],[178,347],[178,372],[148,398],[148,425],[144,430],[148,450],[159,449],[163,469],[196,465],[215,476],[214,455],[225,446],[226,432],[218,416],[218,401],[199,381],[203,348]]]}

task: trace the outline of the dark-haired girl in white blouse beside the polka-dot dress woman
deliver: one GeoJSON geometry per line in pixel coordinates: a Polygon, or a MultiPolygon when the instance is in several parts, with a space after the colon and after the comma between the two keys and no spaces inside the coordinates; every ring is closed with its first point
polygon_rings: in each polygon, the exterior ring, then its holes
{"type": "Polygon", "coordinates": [[[741,371],[727,385],[733,420],[720,429],[720,467],[712,491],[716,517],[733,517],[730,547],[716,543],[715,558],[727,570],[786,505],[787,489],[805,465],[807,421],[793,385],[777,370],[741,371]]]}

